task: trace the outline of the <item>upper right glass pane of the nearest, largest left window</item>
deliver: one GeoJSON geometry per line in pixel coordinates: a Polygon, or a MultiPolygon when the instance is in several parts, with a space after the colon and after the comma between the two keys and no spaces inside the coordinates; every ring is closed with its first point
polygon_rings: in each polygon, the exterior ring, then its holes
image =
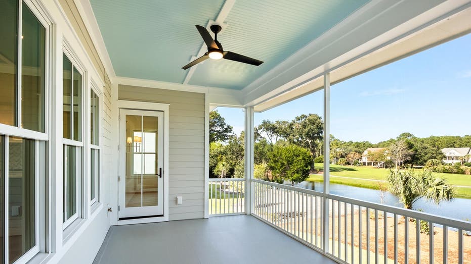
{"type": "Polygon", "coordinates": [[[21,41],[22,127],[45,132],[46,29],[23,3],[21,41]]]}

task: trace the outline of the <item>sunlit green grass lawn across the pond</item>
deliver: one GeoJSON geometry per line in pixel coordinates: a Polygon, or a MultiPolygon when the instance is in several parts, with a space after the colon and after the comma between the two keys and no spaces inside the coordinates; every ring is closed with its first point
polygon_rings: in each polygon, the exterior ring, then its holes
{"type": "MultiPolygon", "coordinates": [[[[316,164],[316,169],[322,170],[322,164],[316,164]]],[[[330,182],[345,184],[369,189],[379,189],[381,182],[386,180],[389,169],[381,169],[371,166],[340,166],[330,165],[330,182]],[[340,177],[335,177],[340,176],[340,177]],[[349,179],[352,178],[352,179],[349,179]],[[354,179],[357,178],[357,179],[354,179]],[[365,180],[360,180],[365,179],[365,180]]],[[[456,196],[461,198],[471,198],[471,175],[434,173],[437,177],[445,178],[453,185],[469,186],[469,188],[456,187],[456,196]]],[[[308,181],[321,182],[322,175],[311,174],[308,181]]]]}

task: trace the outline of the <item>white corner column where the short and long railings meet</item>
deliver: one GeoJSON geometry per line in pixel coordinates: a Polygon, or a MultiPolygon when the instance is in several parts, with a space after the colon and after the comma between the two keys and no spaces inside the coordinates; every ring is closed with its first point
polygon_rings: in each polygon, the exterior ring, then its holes
{"type": "Polygon", "coordinates": [[[253,107],[245,108],[245,214],[250,215],[253,193],[251,179],[253,178],[253,107]]]}

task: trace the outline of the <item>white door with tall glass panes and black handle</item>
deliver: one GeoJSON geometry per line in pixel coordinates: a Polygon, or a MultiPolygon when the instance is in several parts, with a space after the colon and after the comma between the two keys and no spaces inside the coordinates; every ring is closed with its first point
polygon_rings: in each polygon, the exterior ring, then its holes
{"type": "Polygon", "coordinates": [[[163,112],[119,110],[119,219],[163,215],[163,112]]]}

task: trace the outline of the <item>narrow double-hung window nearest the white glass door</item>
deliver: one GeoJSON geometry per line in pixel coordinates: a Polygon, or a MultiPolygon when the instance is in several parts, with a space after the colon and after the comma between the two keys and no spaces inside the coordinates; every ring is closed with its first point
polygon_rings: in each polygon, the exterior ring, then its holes
{"type": "Polygon", "coordinates": [[[90,89],[90,204],[99,201],[100,183],[100,97],[90,89]]]}

